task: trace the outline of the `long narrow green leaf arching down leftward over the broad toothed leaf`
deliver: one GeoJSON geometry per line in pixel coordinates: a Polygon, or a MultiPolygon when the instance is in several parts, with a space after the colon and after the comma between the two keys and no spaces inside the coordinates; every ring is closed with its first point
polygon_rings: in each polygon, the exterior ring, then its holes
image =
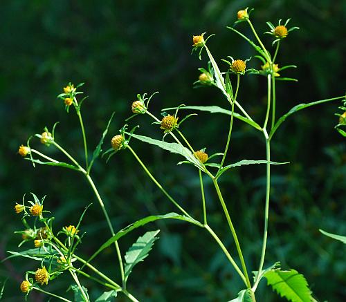
{"type": "Polygon", "coordinates": [[[188,223],[193,223],[194,225],[198,225],[199,227],[202,227],[201,223],[199,223],[197,220],[194,220],[192,218],[188,218],[187,216],[179,215],[176,213],[168,213],[165,215],[153,215],[153,216],[147,216],[145,218],[142,218],[140,220],[137,220],[135,223],[132,223],[131,225],[128,225],[124,229],[121,229],[118,233],[116,233],[114,236],[109,238],[101,247],[89,258],[87,261],[88,263],[95,258],[95,256],[98,256],[100,252],[102,252],[105,248],[109,247],[109,245],[113,244],[117,240],[119,240],[122,236],[125,236],[127,233],[133,231],[134,229],[141,227],[143,225],[146,225],[147,223],[152,223],[155,220],[159,219],[177,219],[177,220],[184,220],[188,223]]]}

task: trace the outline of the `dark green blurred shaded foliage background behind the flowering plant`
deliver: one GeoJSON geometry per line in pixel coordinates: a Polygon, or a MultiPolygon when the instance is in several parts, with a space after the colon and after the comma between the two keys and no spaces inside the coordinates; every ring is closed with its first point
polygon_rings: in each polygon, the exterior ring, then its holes
{"type": "MultiPolygon", "coordinates": [[[[284,75],[298,83],[277,83],[277,114],[295,104],[322,100],[345,93],[346,1],[7,1],[0,11],[0,216],[1,257],[17,250],[23,229],[13,211],[24,193],[47,195],[46,209],[55,216],[55,229],[76,224],[89,202],[94,205],[84,220],[86,232],[78,252],[90,255],[109,238],[107,225],[91,190],[80,175],[55,167],[33,169],[22,160],[18,146],[44,126],[57,126],[57,140],[82,161],[83,150],[78,119],[66,114],[56,95],[67,82],[83,87],[89,99],[83,115],[91,152],[100,139],[112,111],[116,111],[111,135],[118,132],[131,112],[137,93],[160,93],[150,110],[177,104],[226,107],[215,88],[193,89],[206,56],[199,62],[190,55],[192,35],[215,33],[208,42],[219,59],[227,55],[246,59],[255,55],[251,46],[226,29],[236,12],[254,7],[253,23],[258,32],[268,30],[266,21],[292,17],[292,32],[282,43],[281,66],[296,64],[297,70],[284,75]]],[[[251,36],[242,23],[238,29],[251,36]]],[[[270,47],[271,37],[264,37],[270,47]]],[[[259,68],[253,59],[251,64],[259,68]]],[[[221,64],[221,66],[223,66],[221,64]]],[[[223,66],[224,68],[226,66],[223,66]]],[[[239,92],[244,108],[257,120],[264,118],[265,78],[244,77],[239,92]]],[[[322,236],[319,228],[346,234],[345,226],[345,141],[334,130],[338,102],[300,111],[277,131],[272,144],[273,160],[290,161],[273,167],[270,237],[266,265],[281,261],[307,277],[319,301],[345,301],[345,247],[322,236]]],[[[147,116],[131,120],[140,124],[138,133],[161,138],[161,131],[147,116]]],[[[228,117],[200,113],[182,126],[195,148],[208,153],[224,148],[228,117]]],[[[107,137],[110,140],[111,135],[107,137]]],[[[228,161],[264,158],[264,143],[258,133],[236,121],[228,161]]],[[[55,150],[33,143],[37,149],[58,157],[55,150]]],[[[201,219],[198,173],[192,167],[176,167],[177,155],[168,154],[137,141],[131,146],[168,191],[201,219]]],[[[128,151],[114,156],[108,164],[98,160],[93,177],[106,202],[116,229],[150,214],[176,211],[149,181],[128,151]]],[[[221,180],[248,267],[256,270],[260,258],[264,207],[265,167],[242,167],[226,173],[221,180]]],[[[233,247],[225,231],[226,220],[212,185],[206,180],[210,225],[226,245],[233,247]]],[[[140,301],[228,301],[242,284],[217,245],[197,227],[172,221],[147,225],[122,238],[123,252],[146,230],[161,229],[161,238],[144,263],[135,267],[129,290],[140,301]],[[228,299],[228,300],[227,300],[228,299]]],[[[27,248],[31,245],[27,244],[27,248]]],[[[114,251],[109,249],[95,265],[117,278],[114,251]]],[[[236,257],[235,253],[233,255],[236,257]]],[[[19,284],[27,270],[37,263],[25,258],[0,266],[1,280],[10,277],[4,301],[21,301],[19,284]]],[[[68,276],[51,282],[48,290],[65,294],[68,276]]],[[[271,289],[258,290],[257,301],[282,301],[271,289]]],[[[85,281],[92,299],[102,287],[85,281]]],[[[32,301],[46,301],[34,296],[32,301]]],[[[125,301],[122,297],[119,301],[125,301]]]]}

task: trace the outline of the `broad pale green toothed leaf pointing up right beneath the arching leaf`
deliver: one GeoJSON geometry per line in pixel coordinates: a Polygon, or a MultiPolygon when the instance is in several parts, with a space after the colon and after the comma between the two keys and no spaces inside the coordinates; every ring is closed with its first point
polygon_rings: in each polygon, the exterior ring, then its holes
{"type": "Polygon", "coordinates": [[[125,282],[129,278],[129,274],[131,274],[134,266],[147,258],[149,252],[152,250],[154,241],[158,239],[158,237],[156,237],[158,232],[160,232],[159,229],[156,231],[146,232],[143,236],[140,236],[126,252],[125,282]]]}

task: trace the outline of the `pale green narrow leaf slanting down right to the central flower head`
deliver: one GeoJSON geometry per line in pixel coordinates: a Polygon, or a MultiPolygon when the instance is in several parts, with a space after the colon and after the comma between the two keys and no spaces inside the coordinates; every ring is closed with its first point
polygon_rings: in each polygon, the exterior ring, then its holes
{"type": "Polygon", "coordinates": [[[154,138],[148,138],[147,136],[143,135],[137,135],[133,133],[127,134],[131,135],[132,138],[136,138],[137,140],[140,140],[142,142],[154,144],[155,146],[170,151],[172,153],[183,155],[183,157],[186,158],[189,162],[192,162],[192,164],[194,164],[197,168],[204,171],[201,162],[199,162],[199,160],[197,160],[197,158],[194,157],[191,151],[188,148],[182,147],[180,144],[177,144],[176,142],[163,142],[162,140],[154,140],[154,138]]]}

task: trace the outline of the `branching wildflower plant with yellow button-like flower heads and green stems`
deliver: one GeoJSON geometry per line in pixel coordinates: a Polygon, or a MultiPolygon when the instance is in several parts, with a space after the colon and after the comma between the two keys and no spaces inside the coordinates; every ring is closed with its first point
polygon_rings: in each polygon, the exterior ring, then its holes
{"type": "MultiPolygon", "coordinates": [[[[281,20],[278,22],[278,26],[273,26],[272,23],[268,22],[268,26],[271,28],[270,32],[266,32],[273,35],[273,50],[268,50],[260,36],[257,34],[255,27],[251,21],[251,12],[248,8],[244,10],[239,10],[237,13],[237,21],[235,25],[237,26],[249,26],[253,33],[253,38],[246,37],[242,32],[233,27],[228,27],[232,32],[240,35],[250,46],[253,47],[255,53],[254,58],[260,60],[257,68],[247,68],[246,62],[248,59],[233,59],[233,57],[228,56],[226,59],[221,60],[221,64],[226,65],[225,70],[221,72],[219,64],[215,61],[210,51],[207,41],[213,35],[204,38],[206,33],[201,35],[196,35],[192,37],[192,51],[199,52],[199,59],[202,55],[206,54],[207,62],[206,68],[199,68],[199,79],[194,83],[196,86],[203,86],[209,88],[217,88],[221,95],[224,97],[224,106],[218,106],[219,104],[210,104],[210,106],[185,106],[179,105],[171,108],[163,108],[163,113],[161,118],[156,117],[154,113],[149,111],[149,102],[152,97],[156,94],[154,93],[150,97],[147,94],[137,95],[137,100],[129,102],[129,111],[133,113],[127,121],[131,120],[133,117],[138,115],[148,115],[152,118],[152,126],[161,129],[162,138],[154,139],[145,135],[135,134],[134,131],[138,128],[134,126],[131,131],[128,131],[128,125],[120,129],[119,133],[115,133],[110,138],[110,147],[106,151],[102,151],[104,139],[106,138],[109,126],[113,119],[113,115],[107,124],[106,129],[101,135],[100,142],[95,147],[92,155],[89,153],[89,146],[86,140],[86,131],[84,129],[84,124],[82,120],[81,105],[85,100],[79,100],[80,95],[83,94],[80,91],[82,84],[74,86],[69,83],[63,88],[63,93],[58,95],[58,98],[64,102],[66,111],[69,112],[69,108],[73,106],[75,108],[75,113],[78,115],[80,122],[80,129],[82,133],[82,141],[84,146],[84,164],[81,164],[76,158],[74,158],[71,153],[62,147],[62,144],[58,142],[55,138],[55,124],[51,131],[47,128],[44,129],[42,134],[36,134],[35,137],[38,138],[44,146],[42,148],[54,148],[56,152],[62,153],[66,162],[61,162],[56,160],[51,156],[48,156],[44,151],[38,151],[33,147],[30,147],[31,138],[29,138],[26,146],[21,145],[19,147],[19,155],[23,156],[24,159],[30,160],[35,167],[35,164],[46,164],[50,166],[62,167],[65,169],[71,169],[80,174],[89,184],[90,189],[95,194],[95,201],[98,203],[102,212],[104,214],[104,219],[107,222],[109,228],[109,239],[104,242],[100,247],[91,255],[89,258],[84,259],[77,253],[78,245],[82,244],[82,238],[85,234],[82,234],[80,227],[82,223],[82,218],[85,211],[80,216],[80,220],[77,225],[68,225],[60,229],[59,232],[53,232],[53,216],[48,217],[50,214],[46,210],[46,203],[44,204],[44,198],[41,200],[37,198],[35,194],[32,194],[33,200],[26,200],[25,196],[21,203],[17,202],[15,207],[15,213],[21,216],[22,222],[24,223],[24,229],[17,231],[21,234],[22,241],[19,244],[20,247],[24,245],[30,245],[30,249],[24,252],[10,252],[11,256],[25,256],[32,258],[34,261],[38,261],[39,265],[33,268],[33,271],[26,272],[26,276],[20,285],[20,290],[24,294],[28,295],[33,290],[38,290],[44,292],[48,295],[55,297],[55,299],[60,299],[63,301],[70,301],[62,296],[57,296],[53,292],[48,292],[44,290],[44,287],[54,281],[57,277],[64,274],[71,275],[72,285],[71,290],[75,293],[75,301],[90,301],[88,291],[83,285],[82,281],[85,279],[90,279],[99,283],[103,287],[107,287],[109,291],[104,292],[102,296],[97,301],[108,301],[104,297],[115,297],[118,293],[125,294],[131,301],[138,301],[134,293],[130,293],[127,290],[127,283],[129,282],[129,276],[134,270],[134,266],[140,261],[143,261],[152,249],[154,242],[158,239],[159,230],[154,230],[146,232],[143,236],[140,236],[138,240],[132,245],[125,254],[122,254],[120,250],[119,240],[129,234],[129,232],[142,227],[148,223],[152,223],[155,220],[183,220],[185,223],[192,225],[192,227],[198,227],[200,232],[206,232],[210,236],[213,244],[219,246],[219,249],[228,259],[229,264],[233,267],[234,271],[239,276],[239,279],[244,283],[243,288],[239,288],[239,294],[237,297],[229,297],[233,299],[232,301],[256,301],[255,294],[258,285],[261,281],[266,279],[268,285],[273,287],[278,294],[286,297],[289,301],[316,301],[313,298],[313,294],[309,285],[302,274],[294,269],[283,270],[280,266],[280,262],[271,263],[268,265],[265,263],[266,260],[266,249],[268,240],[268,219],[269,219],[269,206],[271,197],[271,165],[273,164],[288,164],[288,162],[275,162],[272,158],[275,158],[275,154],[271,154],[271,141],[275,138],[276,131],[280,128],[282,122],[286,120],[286,117],[292,115],[293,113],[300,111],[309,106],[314,106],[317,104],[322,104],[326,102],[331,102],[334,100],[343,100],[343,105],[340,107],[343,111],[345,108],[345,95],[338,97],[329,98],[327,100],[319,100],[317,102],[311,102],[307,104],[299,104],[291,108],[291,110],[277,118],[276,112],[276,92],[275,92],[275,82],[277,80],[282,81],[296,81],[296,79],[290,77],[282,76],[284,73],[282,71],[287,68],[295,68],[294,65],[282,66],[277,64],[277,55],[280,50],[281,44],[284,42],[284,38],[289,37],[289,33],[292,30],[298,29],[297,27],[287,29],[286,21],[283,25],[281,20]],[[254,40],[254,41],[253,41],[254,40]],[[262,75],[266,77],[266,113],[263,117],[252,116],[246,110],[246,104],[242,102],[239,97],[240,82],[243,76],[252,75],[262,75]],[[191,113],[183,116],[184,111],[207,111],[209,113],[219,113],[226,114],[230,117],[228,125],[228,136],[225,142],[225,147],[223,150],[209,155],[206,153],[207,146],[194,146],[194,144],[186,138],[183,134],[183,127],[181,124],[189,117],[197,115],[196,113],[191,113]],[[167,113],[170,112],[170,113],[167,113]],[[179,113],[179,115],[178,115],[179,113]],[[263,138],[263,146],[266,151],[266,158],[255,159],[255,160],[240,160],[239,162],[229,162],[230,159],[230,145],[233,133],[233,121],[234,119],[244,122],[248,126],[251,126],[253,131],[260,133],[263,138]],[[152,144],[158,148],[164,149],[171,153],[176,153],[181,155],[181,161],[178,164],[189,164],[191,169],[196,170],[196,177],[199,180],[200,194],[201,194],[201,216],[202,221],[197,220],[196,217],[190,214],[189,210],[183,207],[183,202],[178,202],[176,199],[164,188],[163,184],[159,182],[158,178],[154,176],[152,171],[149,171],[147,165],[143,162],[140,156],[136,153],[130,144],[131,138],[144,142],[147,144],[152,144]],[[172,142],[170,142],[172,140],[172,142]],[[121,157],[121,152],[129,152],[134,156],[134,160],[138,162],[139,167],[141,167],[152,182],[158,187],[163,193],[167,200],[172,203],[172,206],[176,207],[179,214],[171,212],[163,215],[147,216],[137,220],[133,224],[121,229],[116,232],[113,229],[111,219],[109,218],[108,211],[104,206],[102,200],[102,194],[98,191],[93,178],[91,176],[91,171],[93,163],[97,160],[100,155],[107,155],[108,160],[115,160],[118,156],[121,157]],[[114,156],[113,156],[114,155],[114,156]],[[264,210],[264,222],[263,222],[263,237],[262,237],[262,248],[258,251],[258,263],[257,267],[251,267],[249,270],[249,265],[246,263],[243,256],[243,247],[241,245],[242,238],[237,236],[237,226],[234,225],[232,216],[233,210],[228,207],[228,202],[224,197],[224,189],[219,186],[219,178],[224,173],[232,171],[235,167],[242,167],[244,165],[251,164],[264,164],[266,167],[266,196],[263,202],[264,210]],[[215,189],[215,196],[221,205],[225,224],[229,231],[229,236],[233,238],[236,246],[236,250],[231,250],[226,247],[225,243],[219,238],[212,229],[212,223],[208,221],[208,209],[206,207],[206,195],[204,194],[204,183],[206,178],[208,178],[208,184],[215,189]],[[31,223],[28,220],[33,220],[31,223]],[[103,272],[100,272],[91,263],[100,253],[104,251],[107,247],[114,245],[116,247],[116,256],[118,258],[118,269],[120,271],[120,281],[113,281],[109,276],[106,276],[103,272]],[[35,249],[33,249],[35,247],[35,249]],[[266,264],[266,267],[264,265],[266,264]],[[85,268],[88,268],[89,274],[85,272],[85,268]],[[78,299],[78,300],[76,300],[78,299]]],[[[346,124],[345,113],[338,114],[339,124],[336,129],[345,136],[345,131],[341,130],[340,127],[346,124]]],[[[232,140],[233,144],[236,144],[235,139],[232,140]]],[[[52,152],[50,153],[52,154],[52,152]]],[[[228,194],[229,195],[229,194],[228,194]]],[[[72,223],[72,222],[71,222],[72,223]]],[[[87,234],[86,234],[87,236],[87,234]]],[[[280,260],[280,259],[277,259],[280,260]]]]}

